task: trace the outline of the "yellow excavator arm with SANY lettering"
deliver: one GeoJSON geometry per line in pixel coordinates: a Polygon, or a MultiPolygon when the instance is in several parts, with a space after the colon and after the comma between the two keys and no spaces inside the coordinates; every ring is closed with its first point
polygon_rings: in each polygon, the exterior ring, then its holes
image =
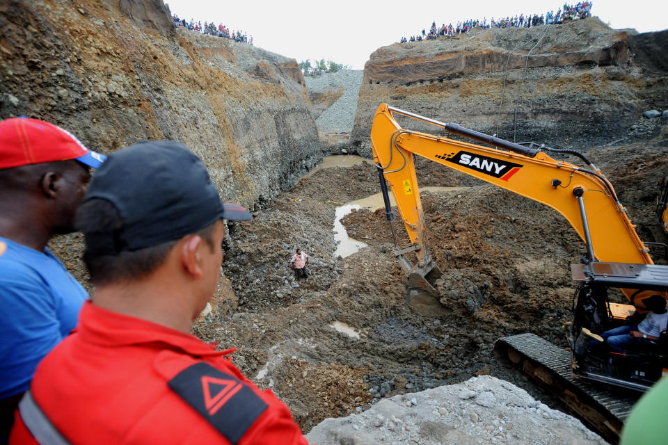
{"type": "MultiPolygon", "coordinates": [[[[431,120],[387,104],[381,104],[376,110],[371,140],[381,187],[385,185],[384,181],[390,184],[401,219],[411,238],[410,247],[397,250],[397,257],[406,270],[409,282],[411,277],[415,282],[420,282],[420,277],[423,277],[427,282],[420,286],[429,288],[434,284],[433,279],[429,280],[430,275],[432,278],[440,275],[427,244],[415,175],[415,156],[422,156],[552,207],[566,218],[586,243],[588,261],[653,264],[648,249],[635,232],[635,225],[617,199],[612,185],[594,165],[582,168],[566,161],[557,161],[545,152],[456,124],[431,120]],[[434,124],[450,133],[495,147],[403,129],[397,124],[393,113],[434,124]],[[417,264],[412,264],[406,258],[405,254],[411,251],[417,255],[417,264]]],[[[623,291],[629,299],[634,293],[630,289],[623,291]]]]}

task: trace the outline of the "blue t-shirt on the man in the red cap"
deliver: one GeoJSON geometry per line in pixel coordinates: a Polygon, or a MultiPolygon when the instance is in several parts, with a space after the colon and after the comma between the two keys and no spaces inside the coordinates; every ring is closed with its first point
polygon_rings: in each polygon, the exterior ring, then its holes
{"type": "Polygon", "coordinates": [[[49,249],[0,236],[0,398],[30,387],[37,364],[74,329],[87,299],[49,249]]]}

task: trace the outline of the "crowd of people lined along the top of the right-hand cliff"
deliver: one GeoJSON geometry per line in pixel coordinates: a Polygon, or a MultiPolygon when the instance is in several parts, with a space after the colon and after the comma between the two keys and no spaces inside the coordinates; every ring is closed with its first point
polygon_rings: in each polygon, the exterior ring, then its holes
{"type": "Polygon", "coordinates": [[[575,5],[568,5],[564,3],[563,10],[559,8],[557,13],[554,13],[554,10],[550,10],[545,15],[531,15],[524,14],[515,15],[515,17],[505,17],[501,19],[492,19],[488,22],[486,17],[483,17],[482,20],[479,19],[468,19],[463,22],[457,22],[456,26],[452,26],[452,23],[445,26],[441,24],[440,28],[436,27],[436,22],[431,22],[431,28],[429,32],[426,29],[422,29],[421,33],[417,35],[411,35],[411,38],[402,37],[399,40],[399,43],[406,42],[420,42],[421,40],[431,40],[438,37],[452,37],[454,34],[462,34],[470,31],[473,28],[489,29],[489,28],[530,28],[532,26],[539,26],[543,24],[560,24],[567,20],[577,20],[585,19],[591,17],[591,1],[581,1],[575,5]]]}

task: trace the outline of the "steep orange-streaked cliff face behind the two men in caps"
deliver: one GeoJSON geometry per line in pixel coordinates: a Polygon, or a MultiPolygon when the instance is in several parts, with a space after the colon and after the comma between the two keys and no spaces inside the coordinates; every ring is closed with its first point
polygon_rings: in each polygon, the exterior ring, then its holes
{"type": "Polygon", "coordinates": [[[0,3],[0,118],[54,122],[107,154],[176,140],[251,208],[321,159],[304,84],[294,59],[175,29],[161,0],[0,3]]]}

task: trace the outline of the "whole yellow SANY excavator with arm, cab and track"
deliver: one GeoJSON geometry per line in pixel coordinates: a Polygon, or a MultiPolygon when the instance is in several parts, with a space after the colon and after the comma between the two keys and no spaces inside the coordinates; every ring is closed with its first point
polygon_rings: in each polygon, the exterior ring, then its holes
{"type": "Polygon", "coordinates": [[[648,248],[653,243],[640,240],[603,172],[575,150],[512,143],[387,104],[376,110],[371,141],[390,227],[394,214],[388,184],[411,239],[411,245],[399,247],[392,228],[395,256],[406,273],[406,298],[411,306],[417,297],[422,305],[424,296],[438,295],[436,280],[443,275],[427,243],[415,156],[546,204],[575,229],[587,254],[581,264],[571,266],[578,289],[573,321],[564,327],[570,351],[534,334],[499,339],[495,350],[549,387],[604,437],[616,442],[623,420],[637,398],[633,392],[646,391],[667,373],[668,339],[664,333],[651,347],[617,354],[605,348],[591,348],[591,338],[585,332],[601,333],[628,323],[636,312],[646,312],[646,298],[666,298],[668,266],[653,264],[648,248]],[[397,124],[395,115],[432,124],[444,134],[485,145],[404,129],[397,124]],[[550,152],[575,156],[584,166],[553,159],[550,152]],[[412,254],[416,261],[411,261],[412,254]],[[621,289],[629,304],[610,302],[608,290],[612,288],[621,289]],[[585,385],[584,381],[595,383],[585,385]],[[624,389],[612,391],[611,385],[624,389]]]}

